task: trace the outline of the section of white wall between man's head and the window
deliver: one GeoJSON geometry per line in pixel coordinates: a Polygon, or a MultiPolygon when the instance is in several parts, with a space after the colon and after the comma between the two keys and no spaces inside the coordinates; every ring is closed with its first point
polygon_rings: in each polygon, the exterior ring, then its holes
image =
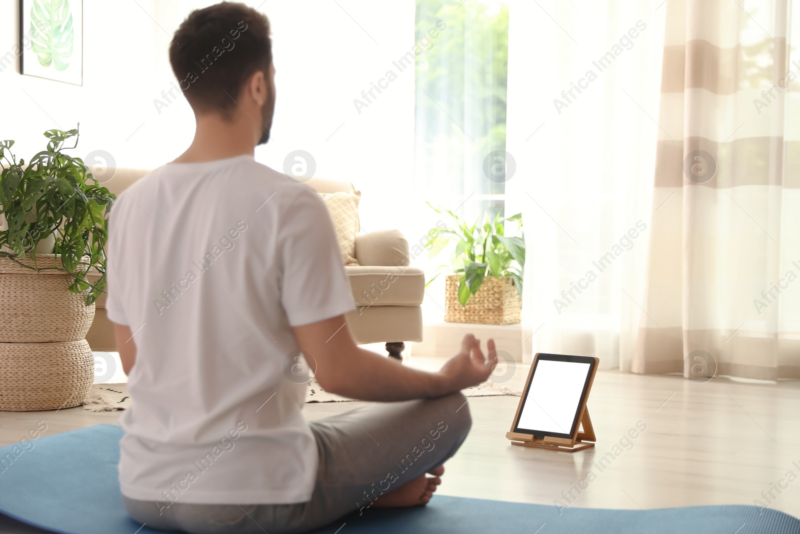
{"type": "Polygon", "coordinates": [[[256,157],[281,169],[290,151],[308,151],[318,176],[348,179],[362,191],[363,230],[403,229],[413,198],[414,70],[398,73],[361,114],[353,100],[386,70],[397,72],[392,62],[414,46],[414,2],[338,4],[344,10],[330,0],[264,4],[278,101],[274,139],[256,157]]]}

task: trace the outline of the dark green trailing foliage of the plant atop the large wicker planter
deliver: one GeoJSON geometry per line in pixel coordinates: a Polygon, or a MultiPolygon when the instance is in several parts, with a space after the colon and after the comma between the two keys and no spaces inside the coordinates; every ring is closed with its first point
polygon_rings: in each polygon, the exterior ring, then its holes
{"type": "MultiPolygon", "coordinates": [[[[106,287],[106,239],[108,211],[114,195],[100,186],[82,159],[64,150],[78,146],[78,130],[47,130],[50,142],[28,161],[17,161],[10,148],[14,141],[0,141],[0,207],[4,229],[0,231],[0,256],[20,265],[30,256],[34,270],[60,270],[73,276],[70,291],[86,291],[86,305],[94,303],[106,287]],[[72,147],[64,147],[67,139],[72,147]],[[55,235],[54,254],[61,260],[40,263],[39,243],[55,235]],[[86,278],[91,270],[100,277],[86,278]],[[89,291],[87,291],[89,290],[89,291]]],[[[27,266],[26,266],[27,267],[27,266]]]]}

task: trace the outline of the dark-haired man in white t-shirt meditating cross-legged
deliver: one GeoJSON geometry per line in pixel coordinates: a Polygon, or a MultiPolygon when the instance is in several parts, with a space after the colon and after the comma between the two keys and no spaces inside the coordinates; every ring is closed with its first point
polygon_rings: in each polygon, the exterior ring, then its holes
{"type": "Polygon", "coordinates": [[[110,222],[107,309],[134,399],[119,463],[130,516],[274,534],[426,504],[470,428],[458,391],[495,359],[466,336],[426,373],[354,344],[325,204],[254,162],[275,102],[266,17],[237,3],[196,10],[170,62],[194,141],[120,195],[110,222]],[[383,404],[307,423],[306,360],[326,391],[383,404]]]}

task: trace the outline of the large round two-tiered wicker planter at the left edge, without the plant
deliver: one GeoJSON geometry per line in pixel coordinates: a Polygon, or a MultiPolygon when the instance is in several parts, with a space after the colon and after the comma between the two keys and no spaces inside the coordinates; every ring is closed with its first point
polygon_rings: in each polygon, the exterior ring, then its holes
{"type": "MultiPolygon", "coordinates": [[[[40,268],[55,261],[37,255],[40,268]]],[[[89,393],[94,359],[86,332],[94,304],[70,292],[71,282],[65,271],[32,271],[0,258],[0,410],[70,408],[89,393]]]]}

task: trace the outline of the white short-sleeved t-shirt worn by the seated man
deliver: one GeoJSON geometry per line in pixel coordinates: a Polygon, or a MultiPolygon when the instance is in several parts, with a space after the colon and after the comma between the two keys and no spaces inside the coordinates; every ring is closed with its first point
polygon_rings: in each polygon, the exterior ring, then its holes
{"type": "Polygon", "coordinates": [[[122,494],[310,500],[318,456],[291,327],[354,309],[322,198],[249,155],[169,163],[120,195],[107,253],[108,317],[136,344],[122,494]]]}

